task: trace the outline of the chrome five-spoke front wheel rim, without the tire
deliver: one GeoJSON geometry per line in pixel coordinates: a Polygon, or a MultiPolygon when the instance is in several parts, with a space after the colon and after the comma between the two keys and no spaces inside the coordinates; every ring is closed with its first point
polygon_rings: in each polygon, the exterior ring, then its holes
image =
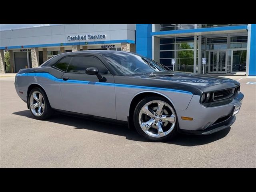
{"type": "Polygon", "coordinates": [[[141,108],[139,123],[142,130],[149,136],[164,137],[175,127],[174,109],[164,101],[150,101],[141,108]]]}

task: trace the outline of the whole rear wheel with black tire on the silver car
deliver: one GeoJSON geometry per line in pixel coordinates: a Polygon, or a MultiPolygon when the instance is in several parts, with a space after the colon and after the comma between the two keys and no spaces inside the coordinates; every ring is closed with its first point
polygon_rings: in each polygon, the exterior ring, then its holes
{"type": "Polygon", "coordinates": [[[30,91],[28,96],[28,106],[31,114],[37,120],[45,120],[49,118],[54,112],[50,106],[46,93],[39,87],[33,88],[30,91]],[[33,96],[33,94],[36,94],[36,97],[33,96]],[[35,98],[39,100],[36,100],[35,98]]]}

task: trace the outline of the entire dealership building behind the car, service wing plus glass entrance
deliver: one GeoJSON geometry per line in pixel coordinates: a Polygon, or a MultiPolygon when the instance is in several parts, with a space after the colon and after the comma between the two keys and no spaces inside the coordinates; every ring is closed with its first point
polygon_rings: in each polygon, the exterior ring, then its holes
{"type": "Polygon", "coordinates": [[[256,24],[65,24],[0,31],[0,72],[78,50],[136,52],[171,70],[256,76],[256,24]]]}

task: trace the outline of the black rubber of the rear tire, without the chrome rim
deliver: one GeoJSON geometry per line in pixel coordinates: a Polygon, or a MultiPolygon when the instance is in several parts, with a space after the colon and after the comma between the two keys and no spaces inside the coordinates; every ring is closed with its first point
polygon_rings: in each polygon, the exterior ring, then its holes
{"type": "Polygon", "coordinates": [[[33,117],[34,117],[35,119],[38,119],[38,120],[44,120],[44,119],[46,119],[46,118],[49,118],[50,115],[52,114],[52,111],[53,111],[52,108],[51,108],[51,106],[50,106],[50,103],[49,103],[49,101],[48,101],[48,98],[47,98],[47,96],[46,96],[46,93],[44,92],[44,90],[42,90],[42,89],[39,88],[39,87],[33,88],[33,89],[30,91],[29,97],[28,97],[28,106],[29,106],[29,110],[30,110],[31,114],[33,115],[33,117]],[[43,112],[42,116],[35,116],[35,115],[33,114],[33,112],[31,111],[31,107],[30,107],[30,97],[31,97],[31,95],[32,95],[32,93],[33,93],[34,91],[40,92],[40,94],[42,94],[42,96],[43,96],[43,98],[44,98],[44,112],[43,112]]]}

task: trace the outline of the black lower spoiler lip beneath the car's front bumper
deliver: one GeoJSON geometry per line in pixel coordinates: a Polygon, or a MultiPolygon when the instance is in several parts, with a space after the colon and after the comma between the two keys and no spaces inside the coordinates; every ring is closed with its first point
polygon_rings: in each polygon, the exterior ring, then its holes
{"type": "Polygon", "coordinates": [[[228,127],[230,127],[236,120],[236,116],[231,116],[228,118],[228,120],[215,124],[213,126],[210,126],[209,128],[206,128],[204,130],[184,130],[184,129],[179,129],[178,132],[183,133],[183,134],[193,134],[193,135],[209,135],[221,130],[224,130],[228,127]]]}

